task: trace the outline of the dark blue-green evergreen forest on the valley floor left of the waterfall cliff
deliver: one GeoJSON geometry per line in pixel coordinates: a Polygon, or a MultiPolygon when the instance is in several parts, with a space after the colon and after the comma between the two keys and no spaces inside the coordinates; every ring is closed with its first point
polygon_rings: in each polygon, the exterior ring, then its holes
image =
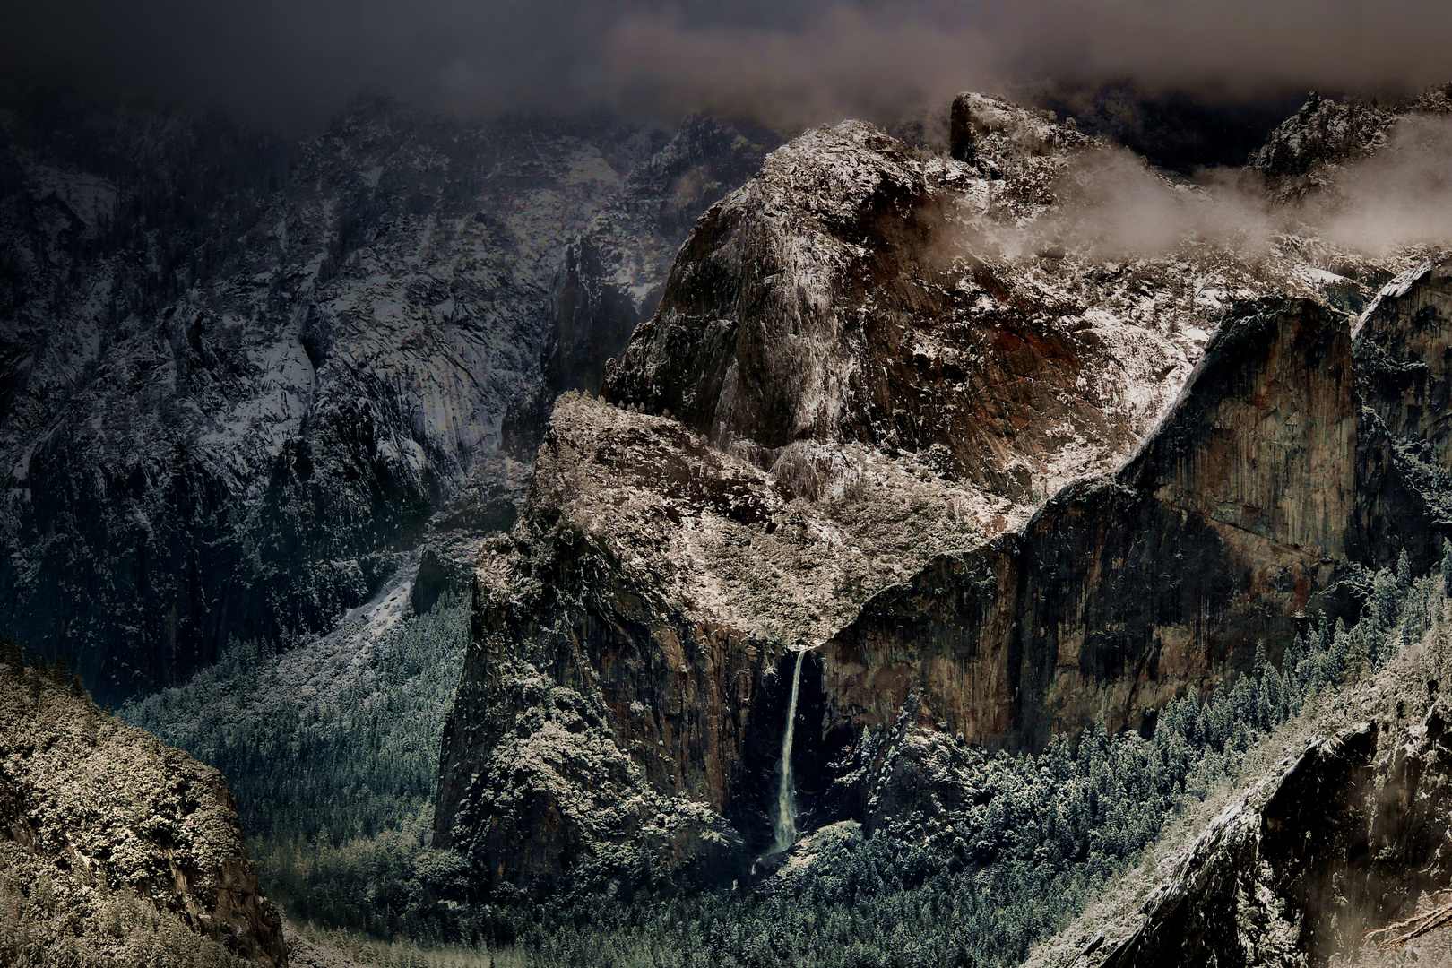
{"type": "Polygon", "coordinates": [[[446,595],[367,655],[327,640],[282,655],[234,644],[122,717],[222,771],[258,877],[289,917],[454,939],[462,862],[428,840],[468,640],[469,601],[446,595]]]}

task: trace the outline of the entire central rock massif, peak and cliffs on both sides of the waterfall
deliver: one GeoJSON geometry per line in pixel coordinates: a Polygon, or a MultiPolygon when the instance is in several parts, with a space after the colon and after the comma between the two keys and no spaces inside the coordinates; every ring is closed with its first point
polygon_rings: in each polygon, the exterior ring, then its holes
{"type": "Polygon", "coordinates": [[[772,152],[556,406],[444,736],[436,840],[486,885],[745,874],[797,649],[804,817],[870,826],[902,717],[1138,726],[1395,557],[1337,308],[1395,260],[1040,248],[1106,148],[980,96],[954,126],[957,158],[855,122],[772,152]]]}

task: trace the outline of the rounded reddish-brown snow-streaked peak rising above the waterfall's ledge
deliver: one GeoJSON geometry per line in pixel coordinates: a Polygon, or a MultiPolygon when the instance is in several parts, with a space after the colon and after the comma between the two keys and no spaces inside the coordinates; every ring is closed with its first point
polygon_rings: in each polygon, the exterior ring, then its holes
{"type": "Polygon", "coordinates": [[[995,181],[867,125],[803,135],[706,215],[604,399],[762,466],[799,440],[932,451],[945,476],[1015,502],[1131,450],[1202,334],[1146,325],[1140,292],[1090,295],[1076,267],[973,254],[974,232],[1043,210],[1066,157],[1028,154],[995,181]]]}

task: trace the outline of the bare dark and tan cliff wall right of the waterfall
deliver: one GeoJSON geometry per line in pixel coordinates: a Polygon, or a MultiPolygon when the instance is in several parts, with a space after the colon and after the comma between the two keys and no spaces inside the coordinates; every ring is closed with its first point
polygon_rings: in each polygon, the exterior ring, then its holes
{"type": "Polygon", "coordinates": [[[823,729],[874,729],[910,695],[976,743],[1138,726],[1294,637],[1345,560],[1355,454],[1346,318],[1308,300],[1230,313],[1121,472],[932,562],[823,646],[823,729]]]}

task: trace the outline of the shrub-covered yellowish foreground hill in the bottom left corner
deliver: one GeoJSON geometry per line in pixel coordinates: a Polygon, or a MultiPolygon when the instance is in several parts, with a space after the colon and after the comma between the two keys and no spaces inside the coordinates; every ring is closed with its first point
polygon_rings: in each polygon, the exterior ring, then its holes
{"type": "Polygon", "coordinates": [[[283,968],[282,917],[257,884],[222,775],[103,714],[62,668],[0,656],[0,959],[78,962],[151,948],[154,964],[283,968]],[[147,913],[145,908],[150,908],[147,913]],[[9,951],[7,951],[9,949],[9,951]],[[189,953],[190,952],[190,953],[189,953]]]}

